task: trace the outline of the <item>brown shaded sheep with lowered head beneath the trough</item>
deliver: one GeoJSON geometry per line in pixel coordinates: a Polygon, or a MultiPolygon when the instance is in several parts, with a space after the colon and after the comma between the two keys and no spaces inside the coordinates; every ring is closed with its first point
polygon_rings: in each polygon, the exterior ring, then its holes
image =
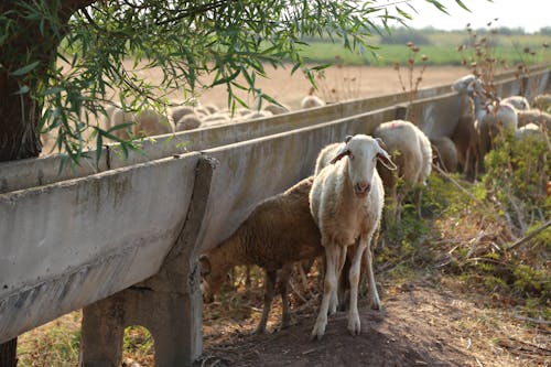
{"type": "Polygon", "coordinates": [[[231,236],[201,257],[205,301],[212,301],[233,267],[257,265],[264,269],[264,305],[257,333],[266,331],[277,271],[282,270],[278,289],[283,304],[281,327],[287,327],[291,320],[287,287],[292,265],[323,253],[320,230],[310,212],[312,183],[310,176],[263,201],[231,236]]]}

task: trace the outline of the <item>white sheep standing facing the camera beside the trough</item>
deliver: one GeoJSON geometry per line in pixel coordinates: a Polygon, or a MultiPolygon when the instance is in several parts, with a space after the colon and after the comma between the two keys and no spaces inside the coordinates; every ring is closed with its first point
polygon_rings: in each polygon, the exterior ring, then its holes
{"type": "MultiPolygon", "coordinates": [[[[382,213],[385,191],[376,170],[376,161],[396,169],[382,142],[365,134],[348,137],[335,153],[332,164],[314,176],[310,192],[310,208],[321,231],[325,248],[325,281],[323,300],[312,338],[321,339],[327,325],[327,313],[336,312],[337,282],[344,266],[347,247],[355,245],[350,271],[350,304],[348,331],[359,334],[360,321],[357,307],[359,267],[367,251],[369,293],[374,307],[380,309],[375,284],[371,259],[371,238],[377,230],[382,213]]],[[[334,150],[334,147],[327,149],[334,150]]],[[[318,156],[325,155],[322,150],[318,156]]]]}

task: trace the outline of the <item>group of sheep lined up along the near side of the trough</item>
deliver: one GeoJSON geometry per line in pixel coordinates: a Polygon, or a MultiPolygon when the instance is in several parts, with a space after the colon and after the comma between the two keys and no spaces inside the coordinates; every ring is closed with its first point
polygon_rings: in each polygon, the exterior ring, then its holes
{"type": "Polygon", "coordinates": [[[462,112],[451,137],[429,139],[415,125],[395,120],[381,123],[372,136],[356,134],[323,148],[312,176],[261,202],[229,238],[201,257],[204,300],[213,299],[233,267],[259,266],[266,271],[266,289],[257,332],[266,330],[276,290],[282,298],[281,325],[285,327],[293,265],[322,257],[323,298],[311,337],[323,337],[327,315],[343,302],[339,278],[346,276],[348,331],[359,334],[360,272],[368,279],[371,306],[380,309],[371,245],[377,240],[385,203],[398,199],[397,177],[409,187],[423,185],[432,164],[437,164],[475,179],[501,130],[514,132],[517,139],[534,134],[549,143],[550,95],[538,96],[530,108],[523,97],[485,99],[487,94],[473,75],[461,78],[453,88],[462,112]]]}

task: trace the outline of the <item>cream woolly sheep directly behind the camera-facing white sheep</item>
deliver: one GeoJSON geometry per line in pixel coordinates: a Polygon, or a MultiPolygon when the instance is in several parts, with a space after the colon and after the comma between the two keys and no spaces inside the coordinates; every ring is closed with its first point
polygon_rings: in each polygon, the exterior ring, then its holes
{"type": "MultiPolygon", "coordinates": [[[[431,142],[421,129],[404,120],[383,122],[375,129],[372,134],[385,142],[398,166],[396,173],[387,170],[383,164],[378,164],[377,170],[385,185],[387,197],[393,204],[393,216],[399,218],[404,193],[397,192],[397,177],[403,180],[407,191],[419,184],[426,185],[426,179],[432,170],[431,142]]],[[[420,211],[420,193],[415,196],[418,211],[420,211]]]]}

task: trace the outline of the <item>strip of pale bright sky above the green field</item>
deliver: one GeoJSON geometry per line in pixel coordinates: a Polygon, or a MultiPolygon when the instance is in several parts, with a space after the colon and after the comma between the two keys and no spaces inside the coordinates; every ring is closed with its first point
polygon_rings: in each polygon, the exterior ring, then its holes
{"type": "MultiPolygon", "coordinates": [[[[389,2],[399,2],[390,0],[389,2]]],[[[408,24],[411,28],[433,26],[441,30],[465,30],[471,23],[473,29],[487,29],[487,23],[498,18],[493,26],[523,28],[533,33],[542,26],[551,26],[551,0],[462,0],[471,9],[471,13],[456,4],[454,0],[440,0],[447,8],[446,15],[424,0],[410,0],[419,14],[408,24]]],[[[408,6],[400,6],[403,10],[408,6]]]]}

